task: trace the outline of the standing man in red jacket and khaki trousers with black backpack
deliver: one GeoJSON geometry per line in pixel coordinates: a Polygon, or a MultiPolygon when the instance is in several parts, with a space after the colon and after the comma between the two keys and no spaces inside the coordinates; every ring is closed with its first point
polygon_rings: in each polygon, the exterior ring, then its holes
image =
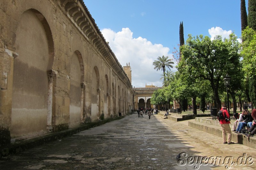
{"type": "Polygon", "coordinates": [[[231,142],[231,129],[230,129],[230,116],[227,111],[227,106],[222,105],[221,108],[222,114],[224,119],[219,119],[220,122],[220,127],[222,129],[222,139],[223,139],[223,144],[235,144],[234,142],[231,142]],[[227,136],[226,133],[228,134],[228,142],[227,142],[227,136]]]}

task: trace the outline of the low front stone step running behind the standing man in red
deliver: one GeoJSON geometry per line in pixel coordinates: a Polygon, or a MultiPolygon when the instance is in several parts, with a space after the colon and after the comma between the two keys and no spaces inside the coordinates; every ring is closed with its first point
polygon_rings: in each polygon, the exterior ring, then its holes
{"type": "MultiPolygon", "coordinates": [[[[222,130],[220,124],[216,126],[204,122],[197,122],[195,120],[191,120],[188,122],[188,126],[222,137],[222,130]]],[[[232,132],[232,141],[238,144],[244,144],[246,146],[256,148],[256,136],[248,138],[243,136],[242,134],[236,134],[232,132]]]]}

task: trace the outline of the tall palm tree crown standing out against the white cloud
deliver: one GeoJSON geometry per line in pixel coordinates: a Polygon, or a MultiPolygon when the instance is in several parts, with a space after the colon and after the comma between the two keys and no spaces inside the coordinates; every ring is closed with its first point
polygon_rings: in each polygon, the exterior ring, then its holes
{"type": "Polygon", "coordinates": [[[162,57],[158,57],[157,60],[155,60],[153,62],[153,65],[155,66],[154,69],[156,69],[156,71],[158,70],[163,70],[164,72],[164,76],[165,76],[165,67],[167,67],[168,69],[173,68],[172,64],[174,64],[174,62],[172,62],[172,59],[169,59],[168,56],[162,56],[162,57]]]}

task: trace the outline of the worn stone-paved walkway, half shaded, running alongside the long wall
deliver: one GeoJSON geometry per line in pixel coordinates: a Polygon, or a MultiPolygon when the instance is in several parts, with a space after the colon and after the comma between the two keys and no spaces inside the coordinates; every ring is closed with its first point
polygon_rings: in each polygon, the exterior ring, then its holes
{"type": "Polygon", "coordinates": [[[71,137],[2,158],[0,169],[256,168],[253,148],[222,144],[221,137],[193,129],[188,126],[188,121],[174,122],[163,119],[161,115],[152,115],[149,120],[148,115],[143,116],[127,115],[71,137]],[[178,164],[176,156],[181,152],[186,153],[181,155],[182,161],[178,164]],[[216,157],[226,158],[224,165],[222,162],[218,164],[217,159],[215,166],[211,166],[216,157]],[[205,163],[208,161],[208,165],[200,165],[200,158],[206,160],[205,163]],[[199,160],[197,163],[196,159],[199,160]],[[240,166],[236,165],[237,159],[243,159],[242,163],[238,161],[240,166]]]}

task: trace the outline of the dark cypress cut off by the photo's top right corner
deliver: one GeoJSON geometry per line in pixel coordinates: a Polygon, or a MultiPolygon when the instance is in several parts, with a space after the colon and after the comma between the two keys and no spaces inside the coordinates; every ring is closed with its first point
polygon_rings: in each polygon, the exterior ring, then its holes
{"type": "Polygon", "coordinates": [[[256,31],[256,0],[248,0],[248,26],[256,31]]]}

